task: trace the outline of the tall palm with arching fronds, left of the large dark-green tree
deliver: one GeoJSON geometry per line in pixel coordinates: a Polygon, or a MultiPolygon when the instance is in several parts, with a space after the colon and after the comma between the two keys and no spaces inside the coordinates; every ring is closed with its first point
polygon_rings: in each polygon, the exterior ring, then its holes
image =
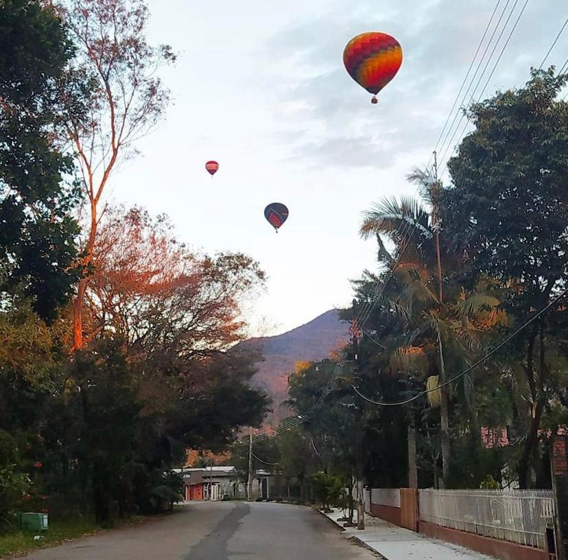
{"type": "MultiPolygon", "coordinates": [[[[408,176],[418,183],[421,195],[429,205],[410,197],[386,199],[364,214],[361,235],[375,235],[379,243],[379,261],[390,266],[397,279],[399,292],[391,296],[388,305],[399,315],[403,340],[392,353],[392,369],[407,377],[411,371],[429,373],[430,386],[441,385],[429,393],[431,406],[440,408],[442,447],[442,487],[449,484],[450,430],[449,398],[451,390],[444,385],[447,366],[463,369],[471,350],[479,342],[479,321],[493,313],[499,300],[475,290],[467,293],[442,275],[442,260],[458,266],[458,255],[440,243],[437,220],[437,200],[441,186],[429,173],[415,169],[408,176]],[[385,243],[394,246],[392,253],[385,243]],[[444,293],[446,292],[446,293],[444,293]]],[[[476,288],[484,288],[482,285],[476,288]]],[[[471,383],[471,380],[466,380],[471,383]]],[[[471,391],[470,391],[471,393],[471,391]]],[[[412,422],[408,424],[409,446],[415,446],[412,422]]],[[[409,457],[415,456],[410,450],[409,457]]],[[[410,472],[415,465],[409,465],[410,472]]],[[[414,478],[414,476],[411,476],[414,478]]]]}

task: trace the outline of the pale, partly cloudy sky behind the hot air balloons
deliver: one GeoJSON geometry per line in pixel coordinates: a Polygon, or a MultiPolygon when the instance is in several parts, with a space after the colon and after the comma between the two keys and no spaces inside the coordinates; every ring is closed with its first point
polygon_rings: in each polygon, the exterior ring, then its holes
{"type": "MultiPolygon", "coordinates": [[[[414,192],[405,174],[428,162],[496,0],[149,3],[150,39],[179,55],[163,71],[174,105],[115,174],[110,200],[167,213],[190,246],[259,260],[269,279],[250,319],[270,334],[348,305],[349,279],[376,266],[361,213],[414,192]],[[404,52],[377,105],[342,62],[348,40],[370,30],[404,52]],[[213,179],[209,159],[220,163],[213,179]],[[269,202],[289,207],[278,235],[269,202]]],[[[529,0],[485,96],[523,84],[567,16],[566,0],[529,0]]],[[[568,28],[547,65],[567,58],[568,28]]]]}

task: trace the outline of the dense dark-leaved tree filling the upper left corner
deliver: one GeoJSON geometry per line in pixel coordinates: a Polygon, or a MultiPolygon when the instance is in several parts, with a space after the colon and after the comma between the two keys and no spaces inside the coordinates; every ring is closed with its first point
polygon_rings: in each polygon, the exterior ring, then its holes
{"type": "MultiPolygon", "coordinates": [[[[48,320],[78,278],[72,266],[78,191],[64,180],[73,163],[57,141],[58,84],[73,56],[53,8],[0,3],[0,292],[21,285],[48,320]]],[[[70,97],[77,107],[79,94],[78,87],[70,97]]]]}

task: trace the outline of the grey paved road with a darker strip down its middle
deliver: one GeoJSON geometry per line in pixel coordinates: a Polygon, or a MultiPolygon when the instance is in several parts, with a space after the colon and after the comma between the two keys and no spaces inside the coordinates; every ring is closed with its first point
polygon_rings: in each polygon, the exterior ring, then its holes
{"type": "Polygon", "coordinates": [[[110,531],[28,560],[372,560],[307,507],[202,502],[139,527],[110,531]]]}

